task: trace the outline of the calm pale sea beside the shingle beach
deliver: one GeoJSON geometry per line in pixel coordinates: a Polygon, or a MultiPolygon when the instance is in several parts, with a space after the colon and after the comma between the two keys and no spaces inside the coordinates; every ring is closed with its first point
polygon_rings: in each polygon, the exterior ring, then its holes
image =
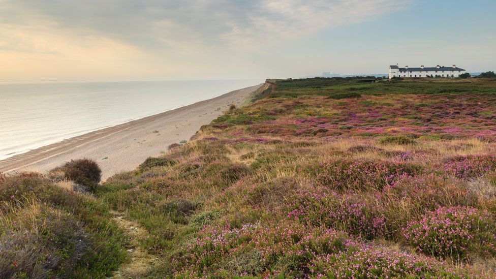
{"type": "Polygon", "coordinates": [[[0,160],[261,82],[0,82],[0,160]]]}

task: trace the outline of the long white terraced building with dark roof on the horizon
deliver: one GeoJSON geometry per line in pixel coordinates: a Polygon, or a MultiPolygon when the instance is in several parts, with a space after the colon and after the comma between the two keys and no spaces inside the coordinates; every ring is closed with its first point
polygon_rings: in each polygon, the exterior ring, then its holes
{"type": "Polygon", "coordinates": [[[466,71],[456,67],[424,67],[423,65],[420,68],[409,68],[405,66],[405,68],[399,68],[398,65],[389,66],[389,78],[393,77],[401,77],[401,78],[417,78],[417,77],[458,77],[459,75],[465,73],[466,71]]]}

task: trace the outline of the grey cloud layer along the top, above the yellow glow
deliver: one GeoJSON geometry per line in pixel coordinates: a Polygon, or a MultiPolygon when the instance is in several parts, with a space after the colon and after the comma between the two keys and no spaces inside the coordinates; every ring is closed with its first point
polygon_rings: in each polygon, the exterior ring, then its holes
{"type": "Polygon", "coordinates": [[[291,40],[391,12],[395,0],[13,0],[0,24],[43,24],[141,47],[256,45],[291,40]]]}

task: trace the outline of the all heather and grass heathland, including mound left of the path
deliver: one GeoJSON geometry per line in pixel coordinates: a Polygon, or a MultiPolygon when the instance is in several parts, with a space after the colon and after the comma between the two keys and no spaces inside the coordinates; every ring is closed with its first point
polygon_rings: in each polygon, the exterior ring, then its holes
{"type": "Polygon", "coordinates": [[[496,275],[496,80],[273,80],[251,98],[92,194],[2,176],[2,276],[133,265],[115,212],[156,259],[124,277],[496,275]]]}

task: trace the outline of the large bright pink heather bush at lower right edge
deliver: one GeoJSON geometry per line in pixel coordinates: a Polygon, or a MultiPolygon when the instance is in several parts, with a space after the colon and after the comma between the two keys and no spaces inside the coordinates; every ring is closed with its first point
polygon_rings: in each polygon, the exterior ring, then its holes
{"type": "Polygon", "coordinates": [[[487,211],[466,206],[441,207],[403,230],[411,245],[426,254],[464,259],[469,252],[496,255],[496,224],[487,211]]]}

